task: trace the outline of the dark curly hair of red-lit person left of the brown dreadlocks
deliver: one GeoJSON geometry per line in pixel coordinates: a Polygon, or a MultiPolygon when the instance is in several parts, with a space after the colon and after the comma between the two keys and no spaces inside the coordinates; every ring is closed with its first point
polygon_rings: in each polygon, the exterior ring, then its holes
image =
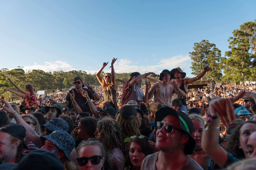
{"type": "Polygon", "coordinates": [[[97,129],[97,121],[94,118],[86,116],[80,119],[78,122],[82,124],[86,134],[89,135],[89,137],[95,137],[94,133],[97,129]]]}

